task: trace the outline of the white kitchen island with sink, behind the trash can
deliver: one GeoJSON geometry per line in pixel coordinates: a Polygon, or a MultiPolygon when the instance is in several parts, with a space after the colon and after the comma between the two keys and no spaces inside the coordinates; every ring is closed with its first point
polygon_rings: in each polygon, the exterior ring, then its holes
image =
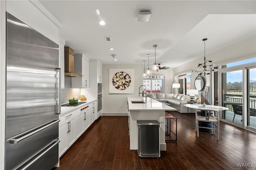
{"type": "Polygon", "coordinates": [[[142,97],[128,97],[130,150],[138,149],[137,120],[157,120],[161,123],[160,150],[166,150],[165,111],[176,111],[177,109],[151,98],[143,99],[146,103],[140,103],[142,101],[142,97]]]}

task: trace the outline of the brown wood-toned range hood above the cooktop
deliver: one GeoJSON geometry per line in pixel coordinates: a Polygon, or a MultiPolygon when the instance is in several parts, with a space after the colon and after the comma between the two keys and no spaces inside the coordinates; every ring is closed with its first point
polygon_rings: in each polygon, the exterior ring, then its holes
{"type": "Polygon", "coordinates": [[[65,47],[65,76],[67,77],[82,77],[81,74],[74,72],[74,50],[70,47],[65,47]]]}

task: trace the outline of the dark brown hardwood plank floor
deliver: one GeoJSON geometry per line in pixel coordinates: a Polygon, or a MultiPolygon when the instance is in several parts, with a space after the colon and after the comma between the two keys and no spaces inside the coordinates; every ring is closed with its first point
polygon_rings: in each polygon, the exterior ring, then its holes
{"type": "Polygon", "coordinates": [[[167,150],[158,159],[141,159],[137,150],[129,149],[128,117],[103,116],[62,156],[55,170],[256,169],[256,133],[221,122],[219,141],[210,132],[196,137],[194,114],[171,114],[178,117],[178,141],[166,142],[167,150]]]}

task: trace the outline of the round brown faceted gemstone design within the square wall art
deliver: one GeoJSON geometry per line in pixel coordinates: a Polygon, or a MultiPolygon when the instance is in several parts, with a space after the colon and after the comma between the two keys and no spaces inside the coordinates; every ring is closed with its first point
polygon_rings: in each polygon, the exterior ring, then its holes
{"type": "Polygon", "coordinates": [[[117,72],[112,78],[112,84],[118,90],[127,89],[130,86],[130,83],[131,76],[124,71],[117,72]]]}

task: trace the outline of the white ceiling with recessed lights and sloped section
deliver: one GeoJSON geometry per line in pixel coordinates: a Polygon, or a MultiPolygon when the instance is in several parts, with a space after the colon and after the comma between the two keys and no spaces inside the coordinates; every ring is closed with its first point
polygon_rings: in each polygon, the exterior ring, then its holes
{"type": "Polygon", "coordinates": [[[176,67],[256,35],[256,0],[40,0],[61,25],[74,53],[102,64],[157,63],[176,67]],[[96,10],[100,15],[96,14],[96,10]],[[138,22],[138,12],[152,12],[138,22]],[[99,25],[102,19],[106,25],[99,25]],[[104,37],[110,37],[107,42],[104,37]],[[114,50],[110,51],[109,48],[114,50]],[[116,55],[114,61],[112,54],[116,55]]]}

